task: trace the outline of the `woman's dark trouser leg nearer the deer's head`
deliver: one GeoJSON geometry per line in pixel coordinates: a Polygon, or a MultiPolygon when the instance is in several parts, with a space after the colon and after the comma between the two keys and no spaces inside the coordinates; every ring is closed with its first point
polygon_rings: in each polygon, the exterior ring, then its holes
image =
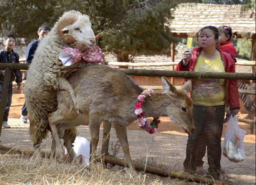
{"type": "Polygon", "coordinates": [[[196,171],[197,166],[203,166],[206,146],[201,139],[201,128],[204,123],[204,106],[194,105],[193,120],[196,130],[193,134],[188,136],[188,143],[186,148],[186,159],[184,160],[184,171],[196,171]]]}

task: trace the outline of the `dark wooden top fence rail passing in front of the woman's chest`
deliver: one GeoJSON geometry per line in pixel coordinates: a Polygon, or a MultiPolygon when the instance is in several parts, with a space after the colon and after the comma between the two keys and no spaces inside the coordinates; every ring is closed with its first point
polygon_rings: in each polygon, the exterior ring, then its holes
{"type": "Polygon", "coordinates": [[[179,77],[179,78],[204,78],[204,79],[242,79],[255,80],[255,73],[214,73],[191,71],[167,71],[148,69],[118,69],[126,75],[151,76],[151,77],[179,77]]]}

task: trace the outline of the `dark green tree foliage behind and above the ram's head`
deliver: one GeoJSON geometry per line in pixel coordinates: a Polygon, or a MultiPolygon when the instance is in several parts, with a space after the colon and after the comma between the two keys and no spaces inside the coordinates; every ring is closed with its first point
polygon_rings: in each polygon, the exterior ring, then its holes
{"type": "Polygon", "coordinates": [[[39,26],[46,24],[52,28],[64,11],[77,10],[90,16],[95,34],[104,32],[99,41],[103,51],[119,56],[166,54],[170,51],[170,42],[178,40],[172,37],[168,20],[182,2],[201,1],[0,0],[0,36],[13,33],[31,41],[38,37],[39,26]]]}

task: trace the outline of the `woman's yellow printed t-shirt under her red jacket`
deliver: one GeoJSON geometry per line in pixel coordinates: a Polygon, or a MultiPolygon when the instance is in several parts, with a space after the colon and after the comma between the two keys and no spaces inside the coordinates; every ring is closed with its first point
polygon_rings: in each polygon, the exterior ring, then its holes
{"type": "MultiPolygon", "coordinates": [[[[199,55],[194,71],[225,72],[220,55],[216,59],[205,59],[199,55]]],[[[194,79],[191,98],[193,104],[204,106],[224,105],[226,98],[225,79],[194,79]]]]}

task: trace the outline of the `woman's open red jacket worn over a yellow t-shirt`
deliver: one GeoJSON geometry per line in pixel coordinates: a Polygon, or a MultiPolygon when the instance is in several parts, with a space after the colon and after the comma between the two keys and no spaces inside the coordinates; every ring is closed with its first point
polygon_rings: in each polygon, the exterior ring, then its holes
{"type": "MultiPolygon", "coordinates": [[[[192,58],[186,67],[182,66],[182,61],[176,65],[176,71],[194,71],[198,57],[202,51],[202,47],[192,49],[192,58]]],[[[236,64],[229,53],[220,51],[220,56],[224,64],[225,71],[235,73],[236,64]]],[[[226,79],[226,107],[231,109],[240,108],[237,80],[226,79]]]]}

